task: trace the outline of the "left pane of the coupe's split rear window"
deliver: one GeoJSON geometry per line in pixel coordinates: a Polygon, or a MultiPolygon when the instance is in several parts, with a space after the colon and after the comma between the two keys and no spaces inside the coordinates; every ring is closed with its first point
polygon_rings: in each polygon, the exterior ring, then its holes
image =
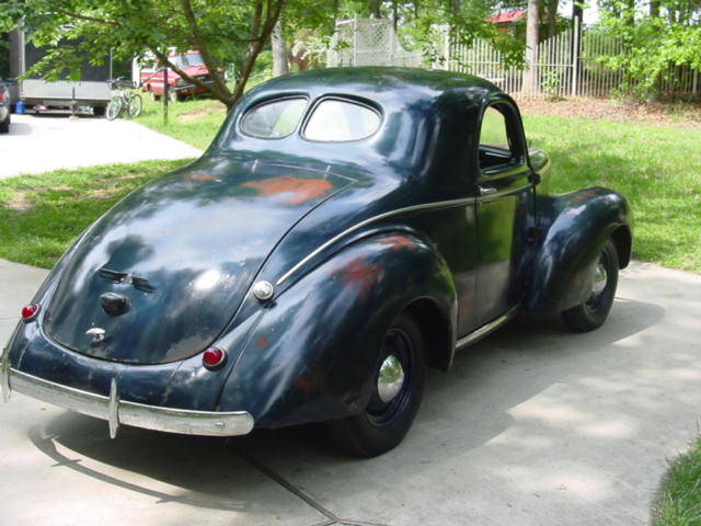
{"type": "Polygon", "coordinates": [[[307,99],[303,96],[260,104],[243,116],[241,130],[263,139],[286,137],[295,132],[306,107],[307,99]]]}

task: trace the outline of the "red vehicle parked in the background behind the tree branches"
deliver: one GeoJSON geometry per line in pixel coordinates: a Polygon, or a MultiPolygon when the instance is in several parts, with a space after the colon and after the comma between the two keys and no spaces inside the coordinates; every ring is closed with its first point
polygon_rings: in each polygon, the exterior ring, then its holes
{"type": "MultiPolygon", "coordinates": [[[[172,64],[193,78],[196,78],[206,84],[212,84],[211,73],[205,66],[199,52],[187,52],[184,54],[174,54],[168,57],[172,64]]],[[[151,94],[152,100],[160,99],[163,94],[165,69],[158,62],[147,66],[139,73],[139,83],[143,91],[151,94]]],[[[194,93],[204,93],[204,89],[183,79],[172,69],[168,68],[168,92],[171,101],[181,101],[187,95],[194,93]]]]}

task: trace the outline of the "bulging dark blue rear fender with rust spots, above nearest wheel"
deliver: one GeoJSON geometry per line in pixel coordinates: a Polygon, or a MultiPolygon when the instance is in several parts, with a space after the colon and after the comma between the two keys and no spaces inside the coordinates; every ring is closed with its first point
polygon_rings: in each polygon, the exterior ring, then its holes
{"type": "MultiPolygon", "coordinates": [[[[244,409],[264,427],[358,413],[369,400],[387,329],[416,301],[444,313],[452,346],[456,288],[434,249],[406,232],[354,242],[267,306],[218,409],[244,409]]],[[[430,341],[427,335],[427,347],[430,341]]]]}

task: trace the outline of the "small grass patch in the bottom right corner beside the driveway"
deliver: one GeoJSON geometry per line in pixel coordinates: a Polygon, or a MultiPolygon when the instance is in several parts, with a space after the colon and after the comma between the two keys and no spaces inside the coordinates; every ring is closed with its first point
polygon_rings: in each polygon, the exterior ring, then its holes
{"type": "Polygon", "coordinates": [[[701,525],[701,437],[671,464],[653,510],[654,526],[701,525]]]}

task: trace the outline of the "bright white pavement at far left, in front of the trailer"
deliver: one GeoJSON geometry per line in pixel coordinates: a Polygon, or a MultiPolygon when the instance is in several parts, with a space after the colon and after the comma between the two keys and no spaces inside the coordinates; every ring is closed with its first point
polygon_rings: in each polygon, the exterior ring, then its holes
{"type": "Polygon", "coordinates": [[[59,168],[199,157],[202,151],[131,121],[12,115],[0,135],[0,179],[59,168]]]}

